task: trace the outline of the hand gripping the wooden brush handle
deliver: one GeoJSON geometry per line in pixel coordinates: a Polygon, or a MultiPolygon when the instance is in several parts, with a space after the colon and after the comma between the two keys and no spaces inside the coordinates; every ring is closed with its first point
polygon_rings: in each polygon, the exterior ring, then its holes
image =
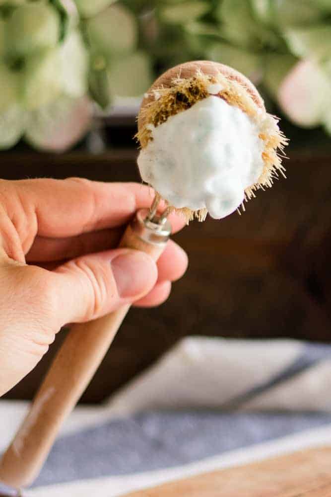
{"type": "MultiPolygon", "coordinates": [[[[65,324],[167,299],[187,267],[182,248],[169,241],[157,264],[115,248],[151,200],[135,183],[0,180],[0,395],[35,367],[65,324]]],[[[175,215],[171,223],[174,231],[184,225],[175,215]]]]}

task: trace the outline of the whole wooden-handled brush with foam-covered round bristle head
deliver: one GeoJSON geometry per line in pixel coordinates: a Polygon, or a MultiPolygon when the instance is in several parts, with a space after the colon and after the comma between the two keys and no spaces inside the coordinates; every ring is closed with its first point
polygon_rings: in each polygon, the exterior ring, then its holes
{"type": "MultiPolygon", "coordinates": [[[[207,212],[224,217],[284,171],[277,150],[286,140],[257,89],[213,62],[188,62],[156,80],[141,104],[137,139],[142,179],[155,198],[149,210],[137,213],[121,247],[143,250],[155,260],[170,235],[171,211],[187,221],[202,221],[207,212]]],[[[19,487],[38,475],[129,307],[72,327],[1,460],[0,480],[19,487]]]]}

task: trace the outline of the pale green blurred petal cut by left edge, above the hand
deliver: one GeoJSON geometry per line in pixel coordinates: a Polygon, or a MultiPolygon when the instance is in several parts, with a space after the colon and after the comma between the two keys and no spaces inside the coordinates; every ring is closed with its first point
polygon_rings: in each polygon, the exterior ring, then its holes
{"type": "Polygon", "coordinates": [[[18,106],[0,112],[0,150],[10,149],[24,131],[25,114],[18,106]]]}

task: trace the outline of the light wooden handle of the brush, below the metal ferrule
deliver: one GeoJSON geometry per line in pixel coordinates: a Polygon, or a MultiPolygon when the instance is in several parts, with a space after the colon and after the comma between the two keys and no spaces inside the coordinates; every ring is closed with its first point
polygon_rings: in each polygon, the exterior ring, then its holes
{"type": "MultiPolygon", "coordinates": [[[[132,226],[128,226],[120,247],[142,250],[157,260],[165,243],[145,242],[132,226]]],[[[18,488],[38,476],[63,421],[91,381],[129,308],[125,305],[108,316],[71,328],[2,457],[0,481],[18,488]]]]}

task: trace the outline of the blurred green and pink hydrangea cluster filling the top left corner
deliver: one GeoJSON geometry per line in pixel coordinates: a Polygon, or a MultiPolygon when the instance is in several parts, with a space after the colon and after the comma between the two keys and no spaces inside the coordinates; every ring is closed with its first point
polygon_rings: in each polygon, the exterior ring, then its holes
{"type": "Polygon", "coordinates": [[[88,129],[88,52],[58,0],[0,0],[0,148],[64,150],[88,129]]]}

